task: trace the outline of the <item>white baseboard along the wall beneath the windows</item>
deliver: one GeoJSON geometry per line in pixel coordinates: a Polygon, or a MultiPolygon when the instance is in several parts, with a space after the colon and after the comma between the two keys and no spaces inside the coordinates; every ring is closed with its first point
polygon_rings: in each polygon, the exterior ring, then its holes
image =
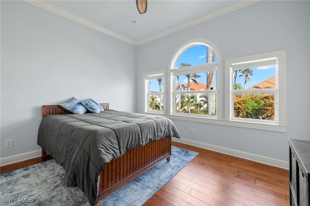
{"type": "Polygon", "coordinates": [[[197,141],[193,141],[193,140],[178,139],[178,138],[173,137],[172,141],[183,143],[186,145],[195,146],[195,147],[200,147],[203,149],[208,149],[208,150],[212,150],[212,151],[216,151],[216,152],[220,152],[220,153],[227,154],[227,155],[232,155],[235,157],[240,157],[240,158],[255,161],[255,162],[260,162],[263,164],[272,165],[272,166],[287,169],[287,170],[289,169],[289,166],[290,166],[288,161],[282,161],[282,160],[278,160],[278,159],[274,159],[274,158],[264,157],[261,155],[256,155],[256,154],[243,152],[243,151],[239,151],[239,150],[234,150],[234,149],[230,149],[230,148],[226,148],[226,147],[219,147],[219,146],[210,145],[210,144],[197,142],[197,141]]]}

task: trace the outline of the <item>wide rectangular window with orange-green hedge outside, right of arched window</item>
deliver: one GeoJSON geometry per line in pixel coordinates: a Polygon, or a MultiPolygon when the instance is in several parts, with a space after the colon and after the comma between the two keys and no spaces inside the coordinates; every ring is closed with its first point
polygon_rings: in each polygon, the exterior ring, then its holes
{"type": "MultiPolygon", "coordinates": [[[[285,51],[225,61],[229,72],[229,120],[283,124],[285,108],[285,51]],[[282,67],[280,67],[282,66],[282,67]]],[[[227,80],[227,78],[226,78],[227,80]]],[[[227,104],[228,105],[228,104],[227,104]]]]}

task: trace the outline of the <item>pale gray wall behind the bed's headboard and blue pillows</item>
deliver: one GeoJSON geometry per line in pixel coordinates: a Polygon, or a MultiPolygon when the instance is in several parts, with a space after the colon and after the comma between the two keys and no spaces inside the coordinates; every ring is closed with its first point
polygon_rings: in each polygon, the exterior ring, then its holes
{"type": "Polygon", "coordinates": [[[136,47],[25,1],[1,0],[0,157],[40,149],[41,106],[72,96],[134,111],[136,47]],[[13,139],[14,147],[5,148],[13,139]]]}

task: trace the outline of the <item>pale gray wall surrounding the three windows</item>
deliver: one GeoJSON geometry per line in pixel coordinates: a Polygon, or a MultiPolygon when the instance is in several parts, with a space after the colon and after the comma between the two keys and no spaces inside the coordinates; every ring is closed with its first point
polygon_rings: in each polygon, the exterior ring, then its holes
{"type": "MultiPolygon", "coordinates": [[[[168,69],[175,49],[194,38],[216,44],[222,66],[225,59],[286,49],[287,132],[172,119],[181,137],[288,161],[288,138],[310,140],[310,1],[260,1],[138,46],[138,112],[142,112],[142,74],[168,69]]],[[[218,88],[224,88],[224,79],[218,88]]]]}

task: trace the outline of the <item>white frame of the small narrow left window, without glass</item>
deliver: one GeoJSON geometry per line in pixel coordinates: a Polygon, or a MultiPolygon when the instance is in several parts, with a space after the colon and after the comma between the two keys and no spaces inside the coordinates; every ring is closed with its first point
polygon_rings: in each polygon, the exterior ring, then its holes
{"type": "Polygon", "coordinates": [[[160,71],[155,71],[155,72],[149,72],[149,73],[144,73],[143,74],[143,111],[144,113],[155,113],[155,114],[164,114],[165,111],[165,105],[166,104],[166,92],[165,89],[166,87],[166,70],[160,70],[160,71]],[[163,88],[162,88],[162,92],[149,92],[149,80],[150,79],[157,79],[157,78],[163,78],[163,88]],[[163,97],[163,105],[164,105],[164,109],[163,111],[154,111],[154,110],[150,110],[150,106],[149,106],[149,95],[162,95],[163,97]]]}

